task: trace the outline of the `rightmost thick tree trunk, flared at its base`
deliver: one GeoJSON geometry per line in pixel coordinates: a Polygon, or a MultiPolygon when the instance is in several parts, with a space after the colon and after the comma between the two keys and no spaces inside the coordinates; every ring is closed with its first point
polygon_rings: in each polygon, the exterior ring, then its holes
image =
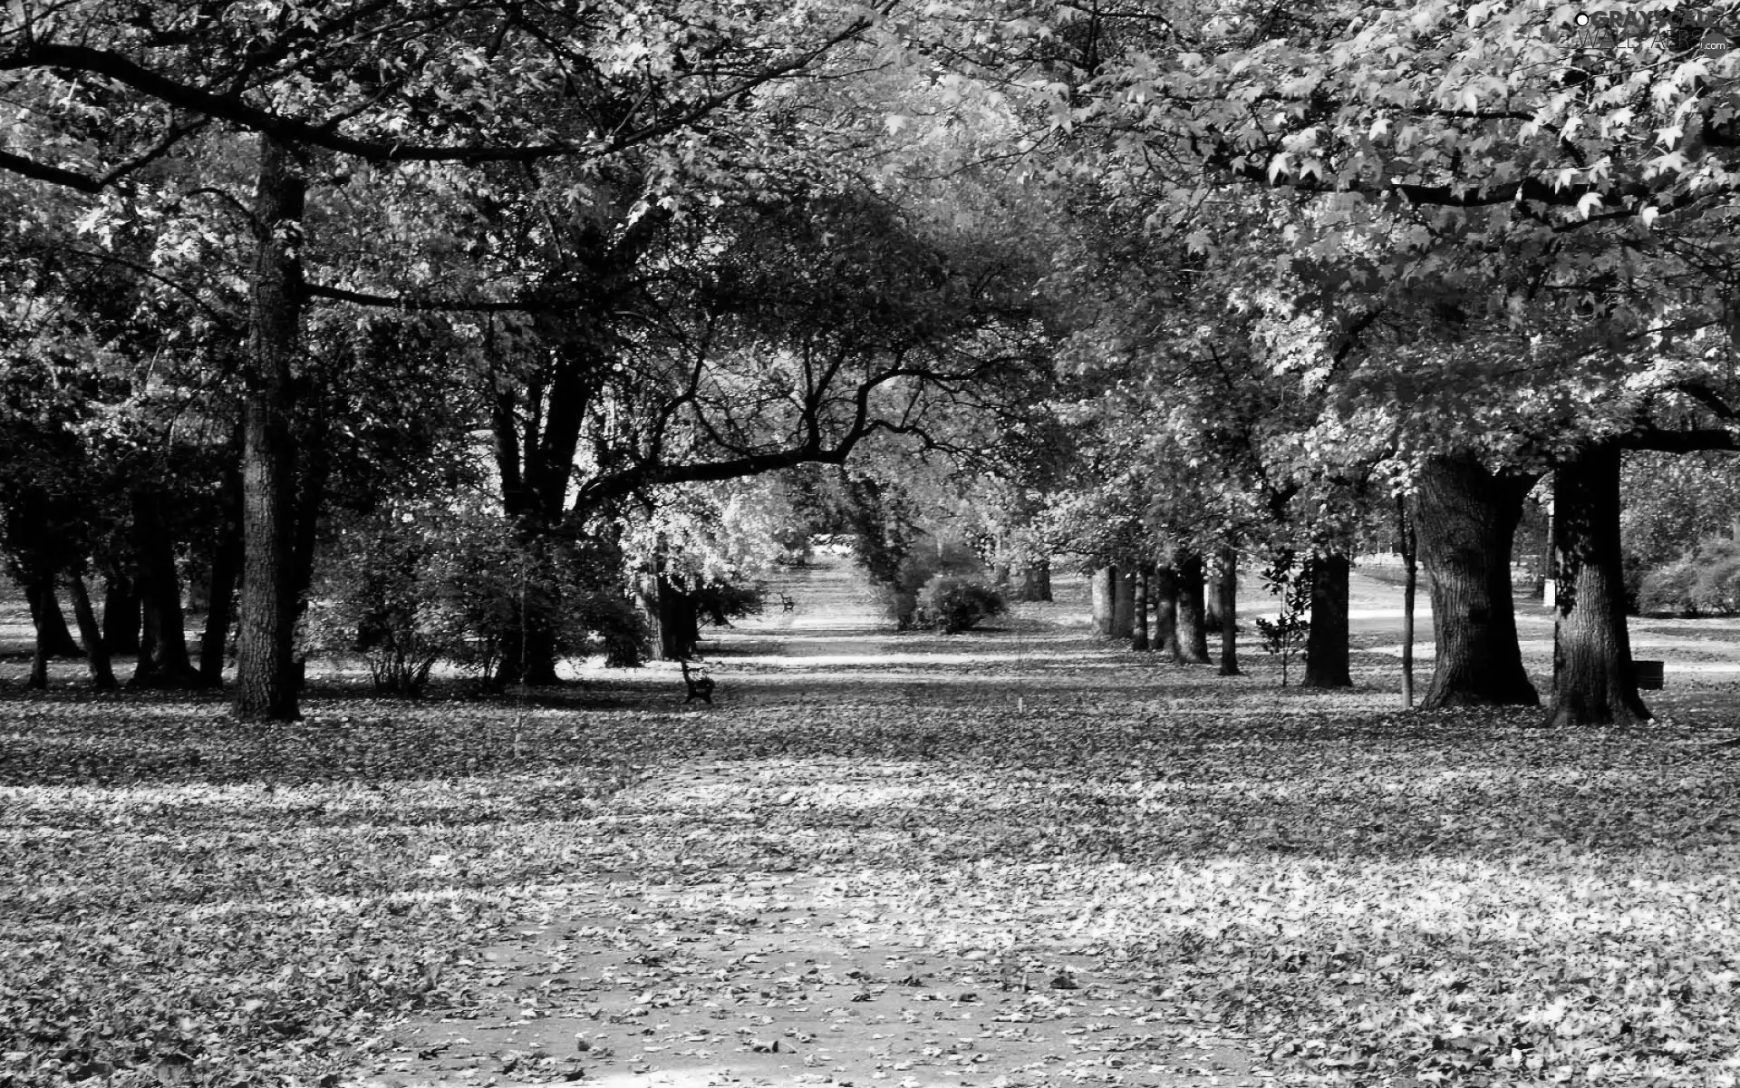
{"type": "Polygon", "coordinates": [[[1650,721],[1637,695],[1620,573],[1620,451],[1597,446],[1554,473],[1554,726],[1650,721]]]}

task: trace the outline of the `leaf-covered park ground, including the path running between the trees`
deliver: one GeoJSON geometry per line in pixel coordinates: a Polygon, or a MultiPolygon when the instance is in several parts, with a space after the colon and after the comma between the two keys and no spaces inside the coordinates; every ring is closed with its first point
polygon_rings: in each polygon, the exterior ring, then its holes
{"type": "Polygon", "coordinates": [[[788,588],[710,709],[7,693],[0,1085],[1740,1083],[1726,679],[1552,733],[1157,665],[1075,583],[788,588]]]}

